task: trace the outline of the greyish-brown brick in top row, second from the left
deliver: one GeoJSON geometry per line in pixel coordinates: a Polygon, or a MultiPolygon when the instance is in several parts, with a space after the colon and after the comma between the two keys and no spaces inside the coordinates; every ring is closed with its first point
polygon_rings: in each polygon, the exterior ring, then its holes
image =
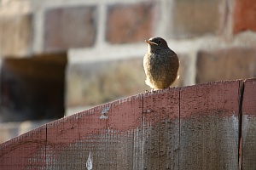
{"type": "Polygon", "coordinates": [[[96,7],[50,9],[44,19],[44,50],[84,48],[96,39],[96,7]]]}

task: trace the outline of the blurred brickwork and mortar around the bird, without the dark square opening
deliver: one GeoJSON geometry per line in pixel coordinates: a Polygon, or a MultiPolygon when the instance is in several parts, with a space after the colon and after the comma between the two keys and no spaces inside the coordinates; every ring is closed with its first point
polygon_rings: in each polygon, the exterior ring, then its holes
{"type": "Polygon", "coordinates": [[[69,114],[149,89],[143,41],[154,36],[165,37],[180,57],[174,86],[256,77],[255,6],[253,0],[2,1],[0,55],[68,52],[69,114]]]}

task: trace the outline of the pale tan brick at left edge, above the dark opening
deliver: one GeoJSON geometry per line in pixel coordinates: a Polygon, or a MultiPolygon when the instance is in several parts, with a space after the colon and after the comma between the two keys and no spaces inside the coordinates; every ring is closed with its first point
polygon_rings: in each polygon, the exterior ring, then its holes
{"type": "Polygon", "coordinates": [[[24,55],[32,45],[32,14],[0,16],[0,55],[24,55]]]}

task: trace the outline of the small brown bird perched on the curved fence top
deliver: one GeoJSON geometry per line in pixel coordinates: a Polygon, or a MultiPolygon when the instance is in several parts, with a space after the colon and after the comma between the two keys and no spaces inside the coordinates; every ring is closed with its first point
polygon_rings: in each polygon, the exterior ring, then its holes
{"type": "Polygon", "coordinates": [[[146,84],[154,89],[169,88],[178,78],[179,59],[177,54],[161,37],[151,37],[148,40],[148,53],[143,59],[146,73],[146,84]]]}

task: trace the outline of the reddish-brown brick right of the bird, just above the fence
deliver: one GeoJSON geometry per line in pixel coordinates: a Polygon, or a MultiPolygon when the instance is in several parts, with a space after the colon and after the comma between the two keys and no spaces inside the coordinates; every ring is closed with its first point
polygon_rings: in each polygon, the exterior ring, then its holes
{"type": "Polygon", "coordinates": [[[200,51],[196,63],[196,82],[255,77],[255,54],[255,48],[225,48],[214,51],[200,51]]]}

